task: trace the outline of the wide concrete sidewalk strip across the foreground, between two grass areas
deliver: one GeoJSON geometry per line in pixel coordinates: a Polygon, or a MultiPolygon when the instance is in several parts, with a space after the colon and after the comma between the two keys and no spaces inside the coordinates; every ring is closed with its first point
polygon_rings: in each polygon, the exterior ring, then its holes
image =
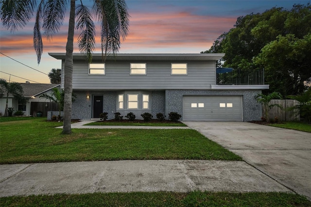
{"type": "Polygon", "coordinates": [[[292,192],[243,161],[121,160],[0,165],[0,197],[192,190],[292,192]]]}

